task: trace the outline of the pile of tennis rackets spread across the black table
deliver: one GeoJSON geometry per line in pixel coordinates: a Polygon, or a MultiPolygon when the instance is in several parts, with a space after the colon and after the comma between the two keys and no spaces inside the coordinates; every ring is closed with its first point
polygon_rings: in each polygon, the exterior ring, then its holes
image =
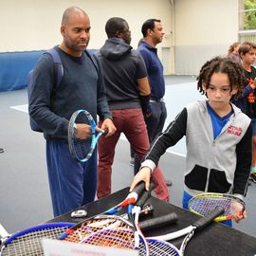
{"type": "MultiPolygon", "coordinates": [[[[145,191],[144,183],[140,183],[133,192],[130,192],[115,207],[105,210],[99,215],[87,218],[76,225],[70,223],[51,223],[15,233],[2,240],[0,255],[44,255],[42,247],[42,240],[44,238],[102,247],[137,249],[139,255],[145,256],[184,255],[185,247],[192,239],[194,232],[203,229],[219,216],[226,218],[228,215],[228,218],[230,218],[230,212],[226,209],[231,207],[227,207],[227,205],[234,204],[233,196],[222,196],[227,198],[227,200],[229,198],[229,203],[226,202],[224,204],[224,199],[222,198],[222,206],[216,207],[219,203],[212,206],[211,202],[210,210],[200,213],[205,214],[205,216],[198,219],[191,226],[161,236],[145,237],[143,230],[171,225],[177,221],[177,215],[174,212],[158,218],[138,221],[141,215],[151,213],[154,210],[150,205],[144,206],[147,199],[151,196],[152,190],[153,186],[150,187],[149,192],[145,191]],[[116,215],[123,211],[126,212],[116,215]],[[180,248],[166,242],[181,236],[185,236],[185,238],[180,248]]],[[[209,194],[210,196],[212,197],[212,194],[209,194]]],[[[216,197],[216,194],[214,196],[216,197]]],[[[212,201],[212,198],[209,200],[212,201]]],[[[191,204],[192,201],[195,201],[195,199],[192,198],[191,204]]],[[[236,200],[235,203],[237,204],[238,201],[236,200]]],[[[245,210],[244,204],[243,207],[243,210],[245,210]]]]}

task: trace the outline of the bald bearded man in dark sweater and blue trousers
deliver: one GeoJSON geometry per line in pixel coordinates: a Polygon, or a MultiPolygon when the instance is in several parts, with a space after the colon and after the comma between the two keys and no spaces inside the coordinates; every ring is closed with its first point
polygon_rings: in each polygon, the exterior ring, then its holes
{"type": "MultiPolygon", "coordinates": [[[[84,52],[90,40],[90,20],[84,10],[64,10],[61,33],[63,42],[56,46],[64,67],[64,77],[52,97],[53,60],[44,54],[36,64],[28,102],[30,117],[44,130],[46,162],[54,216],[74,210],[95,199],[97,152],[85,163],[77,162],[69,153],[68,121],[79,109],[86,109],[101,128],[108,128],[106,137],[115,133],[115,126],[105,98],[101,68],[96,68],[84,52]],[[99,69],[99,70],[98,70],[99,69]],[[98,72],[99,71],[99,72],[98,72]]],[[[76,137],[90,136],[90,128],[77,123],[76,137]]]]}

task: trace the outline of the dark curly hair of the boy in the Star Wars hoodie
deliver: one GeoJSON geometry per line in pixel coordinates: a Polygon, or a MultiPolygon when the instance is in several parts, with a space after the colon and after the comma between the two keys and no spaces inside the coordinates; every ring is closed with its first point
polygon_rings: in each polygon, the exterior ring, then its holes
{"type": "Polygon", "coordinates": [[[203,64],[197,77],[197,90],[206,94],[203,90],[203,83],[209,88],[210,78],[213,73],[227,74],[229,77],[230,90],[237,87],[238,91],[232,96],[231,100],[237,100],[241,97],[244,88],[244,73],[241,64],[234,63],[227,57],[217,56],[207,63],[203,64]]]}

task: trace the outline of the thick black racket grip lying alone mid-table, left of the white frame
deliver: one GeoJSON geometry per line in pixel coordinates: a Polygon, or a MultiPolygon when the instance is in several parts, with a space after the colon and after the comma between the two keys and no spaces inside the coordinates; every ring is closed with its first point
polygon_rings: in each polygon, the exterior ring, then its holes
{"type": "Polygon", "coordinates": [[[177,214],[175,212],[168,213],[164,216],[159,216],[154,219],[149,219],[139,222],[139,228],[142,231],[149,229],[160,228],[166,225],[174,224],[178,220],[177,214]]]}

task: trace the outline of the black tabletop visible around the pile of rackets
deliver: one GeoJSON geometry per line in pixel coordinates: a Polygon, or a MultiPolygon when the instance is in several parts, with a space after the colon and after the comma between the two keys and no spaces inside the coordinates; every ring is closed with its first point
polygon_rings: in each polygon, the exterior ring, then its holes
{"type": "MultiPolygon", "coordinates": [[[[129,188],[114,192],[113,194],[101,198],[101,200],[83,206],[81,209],[87,211],[87,217],[94,216],[118,204],[128,194],[129,188]]],[[[178,229],[184,229],[200,217],[194,213],[183,210],[172,204],[163,202],[152,196],[148,202],[153,205],[154,213],[144,216],[144,218],[155,218],[163,216],[168,212],[176,212],[178,221],[170,226],[164,226],[159,229],[150,229],[144,232],[146,236],[157,236],[178,229]]],[[[77,222],[82,221],[81,218],[74,219],[71,212],[67,212],[48,222],[77,222]]],[[[169,241],[175,247],[180,247],[184,237],[169,241]]],[[[210,256],[253,256],[256,254],[256,237],[248,235],[237,229],[229,228],[219,223],[212,223],[210,226],[198,231],[192,237],[186,247],[185,255],[210,255],[210,256]]]]}

